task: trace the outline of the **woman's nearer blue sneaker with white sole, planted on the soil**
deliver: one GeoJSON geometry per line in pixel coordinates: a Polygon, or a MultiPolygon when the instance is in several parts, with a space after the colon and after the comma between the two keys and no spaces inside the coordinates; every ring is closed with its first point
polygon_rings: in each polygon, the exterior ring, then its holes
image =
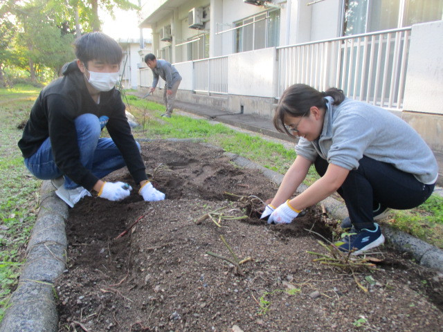
{"type": "Polygon", "coordinates": [[[356,230],[352,228],[349,235],[334,244],[344,252],[355,250],[351,255],[360,255],[366,250],[378,247],[385,241],[385,237],[381,234],[379,224],[374,223],[374,226],[375,230],[368,230],[367,228],[356,230]]]}

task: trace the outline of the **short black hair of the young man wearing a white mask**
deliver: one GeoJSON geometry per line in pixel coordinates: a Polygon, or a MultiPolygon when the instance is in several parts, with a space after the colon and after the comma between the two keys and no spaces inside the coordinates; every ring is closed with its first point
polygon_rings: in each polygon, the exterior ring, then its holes
{"type": "Polygon", "coordinates": [[[120,45],[104,33],[87,33],[73,43],[75,56],[87,66],[91,60],[100,60],[107,64],[120,64],[123,51],[120,45]]]}

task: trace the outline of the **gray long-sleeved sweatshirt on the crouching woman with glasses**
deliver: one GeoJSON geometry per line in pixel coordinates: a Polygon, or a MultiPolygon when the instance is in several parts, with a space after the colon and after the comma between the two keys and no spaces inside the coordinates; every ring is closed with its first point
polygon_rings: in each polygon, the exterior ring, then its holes
{"type": "Polygon", "coordinates": [[[300,138],[296,152],[314,162],[317,156],[345,169],[356,169],[364,156],[390,163],[424,184],[437,181],[437,160],[409,124],[381,107],[346,98],[332,105],[327,97],[318,140],[300,138]]]}

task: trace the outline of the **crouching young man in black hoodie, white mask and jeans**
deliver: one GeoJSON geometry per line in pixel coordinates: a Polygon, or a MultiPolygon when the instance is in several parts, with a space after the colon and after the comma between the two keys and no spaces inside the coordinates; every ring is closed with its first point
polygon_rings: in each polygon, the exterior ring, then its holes
{"type": "Polygon", "coordinates": [[[127,183],[100,180],[125,166],[145,201],[165,199],[147,181],[140,145],[114,88],[122,49],[104,33],[87,33],[74,46],[77,59],[64,65],[63,76],[40,92],[30,111],[18,143],[26,167],[37,178],[53,180],[55,193],[71,208],[91,190],[110,201],[129,196],[127,183]],[[111,138],[100,138],[105,126],[111,138]]]}

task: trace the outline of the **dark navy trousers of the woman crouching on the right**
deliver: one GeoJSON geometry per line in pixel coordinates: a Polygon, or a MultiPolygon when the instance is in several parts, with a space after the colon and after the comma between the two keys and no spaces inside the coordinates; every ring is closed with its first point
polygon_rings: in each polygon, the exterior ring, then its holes
{"type": "MultiPolygon", "coordinates": [[[[327,160],[317,157],[316,171],[325,175],[327,160]]],[[[391,164],[363,156],[359,168],[349,172],[337,190],[345,200],[352,224],[357,230],[372,228],[372,210],[384,208],[406,210],[424,203],[435,185],[424,185],[413,174],[402,172],[391,164]]]]}

